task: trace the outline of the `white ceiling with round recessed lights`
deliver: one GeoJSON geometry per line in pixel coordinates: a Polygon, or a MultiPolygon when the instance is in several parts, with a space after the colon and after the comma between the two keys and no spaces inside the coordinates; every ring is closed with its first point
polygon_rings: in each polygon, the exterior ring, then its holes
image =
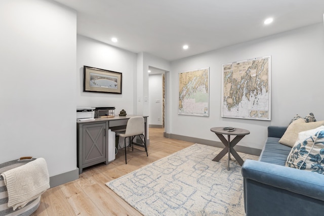
{"type": "Polygon", "coordinates": [[[324,0],[55,1],[77,11],[78,34],[169,61],[320,23],[324,13],[324,0]]]}

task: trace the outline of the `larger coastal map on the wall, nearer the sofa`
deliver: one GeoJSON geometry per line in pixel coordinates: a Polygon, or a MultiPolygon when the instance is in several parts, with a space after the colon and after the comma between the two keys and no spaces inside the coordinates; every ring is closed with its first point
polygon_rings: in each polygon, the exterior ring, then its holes
{"type": "Polygon", "coordinates": [[[271,56],[222,65],[221,116],[271,120],[271,56]]]}

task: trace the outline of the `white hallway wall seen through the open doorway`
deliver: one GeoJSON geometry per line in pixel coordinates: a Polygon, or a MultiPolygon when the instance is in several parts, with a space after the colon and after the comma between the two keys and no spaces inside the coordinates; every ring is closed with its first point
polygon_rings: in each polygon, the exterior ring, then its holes
{"type": "Polygon", "coordinates": [[[163,74],[150,74],[148,76],[148,124],[163,125],[163,74]]]}

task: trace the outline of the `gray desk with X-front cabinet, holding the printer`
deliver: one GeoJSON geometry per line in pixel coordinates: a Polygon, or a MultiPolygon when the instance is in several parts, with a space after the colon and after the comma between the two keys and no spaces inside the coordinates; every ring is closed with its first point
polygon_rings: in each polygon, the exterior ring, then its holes
{"type": "MultiPolygon", "coordinates": [[[[85,167],[105,162],[108,164],[108,129],[116,131],[125,129],[128,119],[138,115],[95,118],[89,121],[76,122],[77,134],[77,167],[79,174],[85,167]]],[[[145,122],[145,141],[147,142],[147,117],[145,122]]]]}

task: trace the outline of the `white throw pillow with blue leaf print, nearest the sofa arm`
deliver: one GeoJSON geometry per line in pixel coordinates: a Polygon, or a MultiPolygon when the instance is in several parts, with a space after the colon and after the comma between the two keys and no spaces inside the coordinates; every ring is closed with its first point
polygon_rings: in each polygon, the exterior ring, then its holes
{"type": "Polygon", "coordinates": [[[324,130],[296,142],[288,155],[286,166],[324,174],[324,130]]]}

